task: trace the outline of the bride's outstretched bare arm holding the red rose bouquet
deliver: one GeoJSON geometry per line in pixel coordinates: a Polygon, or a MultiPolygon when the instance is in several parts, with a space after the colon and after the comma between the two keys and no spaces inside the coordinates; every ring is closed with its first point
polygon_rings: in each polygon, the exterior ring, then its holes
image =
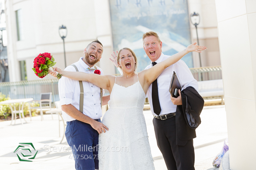
{"type": "Polygon", "coordinates": [[[59,72],[62,76],[79,81],[87,81],[95,84],[100,88],[109,90],[110,87],[110,77],[112,75],[98,75],[98,74],[87,74],[79,71],[65,71],[61,70],[59,67],[54,67],[53,72],[49,71],[49,74],[56,77],[56,71],[59,72]]]}

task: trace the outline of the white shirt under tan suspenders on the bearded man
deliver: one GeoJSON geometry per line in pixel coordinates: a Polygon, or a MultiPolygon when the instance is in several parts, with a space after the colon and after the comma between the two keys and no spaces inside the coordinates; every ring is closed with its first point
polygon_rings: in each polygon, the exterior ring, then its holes
{"type": "MultiPolygon", "coordinates": [[[[88,74],[94,74],[94,71],[86,71],[86,68],[89,66],[84,63],[80,58],[78,62],[74,63],[74,65],[78,68],[78,71],[85,72],[88,74]]],[[[91,67],[94,68],[94,67],[91,67]]],[[[68,66],[65,68],[66,71],[76,71],[75,67],[68,66]]],[[[101,71],[101,75],[103,71],[101,68],[97,67],[97,70],[101,71]]],[[[62,77],[58,83],[59,86],[59,97],[60,97],[60,105],[72,104],[77,110],[79,110],[79,102],[80,102],[80,86],[78,80],[69,79],[66,77],[62,77]]],[[[92,119],[99,119],[102,116],[101,112],[101,95],[100,88],[95,86],[90,82],[83,81],[83,89],[84,89],[84,99],[83,99],[83,114],[89,116],[92,119]]],[[[104,90],[103,90],[104,94],[104,90]]],[[[62,111],[63,119],[67,122],[72,120],[76,120],[69,116],[67,113],[62,111]]]]}

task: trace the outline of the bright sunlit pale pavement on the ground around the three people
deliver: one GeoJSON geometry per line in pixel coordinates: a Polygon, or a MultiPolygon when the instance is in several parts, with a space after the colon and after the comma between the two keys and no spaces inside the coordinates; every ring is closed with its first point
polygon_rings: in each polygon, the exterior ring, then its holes
{"type": "MultiPolygon", "coordinates": [[[[144,111],[147,131],[154,158],[156,170],[167,170],[162,154],[157,147],[152,123],[151,111],[144,111]]],[[[58,115],[35,116],[30,122],[10,126],[10,121],[0,122],[0,167],[3,170],[75,170],[71,150],[64,138],[60,143],[58,115]],[[33,162],[20,162],[14,150],[19,143],[33,143],[38,153],[33,162]],[[48,150],[48,151],[47,151],[48,150]]],[[[194,139],[195,169],[215,170],[212,161],[221,151],[225,138],[227,138],[225,106],[204,107],[201,114],[202,123],[197,128],[197,138],[194,139]]],[[[63,127],[61,126],[61,133],[63,127]]]]}

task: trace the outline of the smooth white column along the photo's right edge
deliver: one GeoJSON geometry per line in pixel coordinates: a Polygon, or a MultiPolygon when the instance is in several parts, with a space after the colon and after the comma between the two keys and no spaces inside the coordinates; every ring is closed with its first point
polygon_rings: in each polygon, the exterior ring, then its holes
{"type": "Polygon", "coordinates": [[[232,170],[255,170],[256,1],[215,0],[232,170]]]}

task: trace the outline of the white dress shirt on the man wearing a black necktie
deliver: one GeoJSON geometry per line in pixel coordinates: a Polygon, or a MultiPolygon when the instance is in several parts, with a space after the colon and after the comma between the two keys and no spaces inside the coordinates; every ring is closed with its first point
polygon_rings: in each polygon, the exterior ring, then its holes
{"type": "MultiPolygon", "coordinates": [[[[170,56],[164,55],[162,53],[161,56],[155,62],[160,63],[169,57],[170,56]]],[[[145,68],[145,70],[151,67],[153,67],[152,62],[150,65],[148,65],[145,68]]],[[[161,112],[159,115],[165,115],[165,114],[176,112],[177,106],[172,103],[170,99],[171,94],[169,92],[173,71],[176,72],[178,80],[180,81],[181,86],[183,86],[181,90],[187,88],[188,86],[192,86],[196,90],[198,89],[198,83],[193,78],[191,71],[189,70],[187,64],[184,61],[179,60],[177,63],[173,64],[172,66],[167,67],[162,72],[162,74],[160,74],[159,77],[157,78],[158,96],[159,96],[159,102],[161,106],[161,112]]],[[[152,84],[150,84],[148,88],[147,97],[148,97],[152,114],[154,116],[157,116],[157,114],[154,113],[153,104],[152,104],[152,84]]]]}

